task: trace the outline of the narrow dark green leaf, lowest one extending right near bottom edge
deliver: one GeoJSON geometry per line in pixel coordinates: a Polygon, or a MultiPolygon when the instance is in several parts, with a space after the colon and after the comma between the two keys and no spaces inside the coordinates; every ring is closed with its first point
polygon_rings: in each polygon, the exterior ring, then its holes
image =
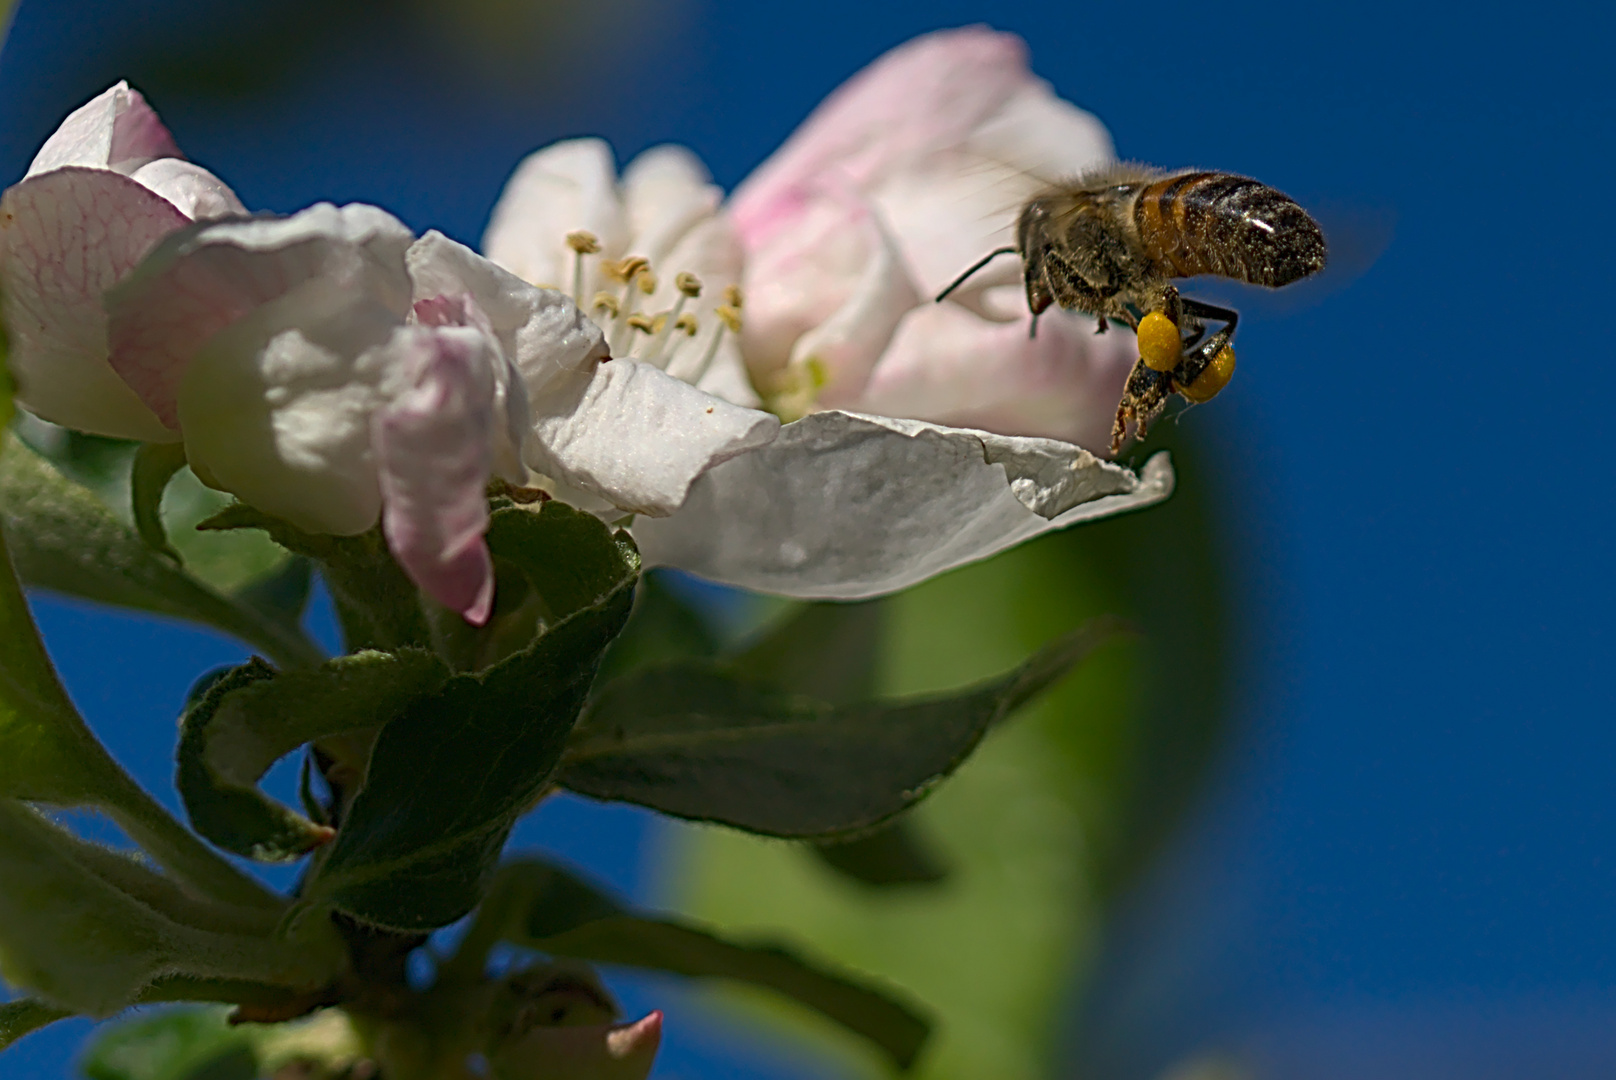
{"type": "Polygon", "coordinates": [[[633,915],[541,862],[501,867],[486,915],[478,917],[465,944],[480,949],[494,936],[551,956],[764,986],[873,1041],[900,1069],[915,1062],[931,1030],[890,991],[777,946],[737,944],[693,923],[633,915]]]}

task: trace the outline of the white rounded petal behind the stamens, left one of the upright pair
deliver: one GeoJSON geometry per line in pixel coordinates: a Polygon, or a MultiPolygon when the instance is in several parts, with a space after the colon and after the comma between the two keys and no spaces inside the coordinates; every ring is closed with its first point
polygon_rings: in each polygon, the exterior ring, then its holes
{"type": "MultiPolygon", "coordinates": [[[[603,139],[569,139],[530,154],[506,181],[494,204],[483,251],[524,281],[572,289],[567,233],[595,233],[603,255],[622,255],[629,239],[617,197],[617,165],[603,139]]],[[[595,294],[598,275],[590,262],[585,299],[595,294]]]]}

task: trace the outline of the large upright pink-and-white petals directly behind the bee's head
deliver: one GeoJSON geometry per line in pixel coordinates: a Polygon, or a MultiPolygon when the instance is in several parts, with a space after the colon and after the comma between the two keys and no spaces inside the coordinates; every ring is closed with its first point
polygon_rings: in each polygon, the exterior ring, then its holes
{"type": "Polygon", "coordinates": [[[1128,333],[1052,310],[1028,333],[1016,260],[932,297],[1013,244],[1020,204],[1112,158],[1026,45],[986,27],[907,42],[837,89],[737,189],[743,351],[785,407],[842,407],[1100,448],[1128,333]]]}

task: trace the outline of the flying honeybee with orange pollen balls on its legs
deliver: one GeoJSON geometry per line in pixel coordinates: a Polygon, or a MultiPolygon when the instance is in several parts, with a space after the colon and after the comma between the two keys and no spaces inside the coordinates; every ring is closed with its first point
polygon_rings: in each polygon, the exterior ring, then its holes
{"type": "Polygon", "coordinates": [[[987,254],[937,299],[1005,254],[1021,255],[1033,333],[1058,304],[1094,315],[1102,333],[1117,320],[1139,336],[1112,425],[1115,454],[1128,424],[1143,438],[1170,393],[1210,401],[1235,373],[1239,314],[1180,296],[1172,280],[1212,273],[1280,288],[1322,270],[1325,243],[1306,210],[1256,179],[1123,163],[1028,199],[1015,246],[987,254]],[[1220,327],[1207,333],[1209,322],[1220,327]]]}

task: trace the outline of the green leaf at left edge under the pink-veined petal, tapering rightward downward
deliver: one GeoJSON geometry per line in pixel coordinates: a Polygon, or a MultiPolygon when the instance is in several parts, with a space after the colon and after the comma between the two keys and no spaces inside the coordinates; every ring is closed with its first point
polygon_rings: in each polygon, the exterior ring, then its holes
{"type": "Polygon", "coordinates": [[[147,546],[89,490],[16,438],[5,441],[0,525],[27,585],[204,622],[286,666],[320,663],[318,647],[299,631],[196,580],[147,546]]]}

